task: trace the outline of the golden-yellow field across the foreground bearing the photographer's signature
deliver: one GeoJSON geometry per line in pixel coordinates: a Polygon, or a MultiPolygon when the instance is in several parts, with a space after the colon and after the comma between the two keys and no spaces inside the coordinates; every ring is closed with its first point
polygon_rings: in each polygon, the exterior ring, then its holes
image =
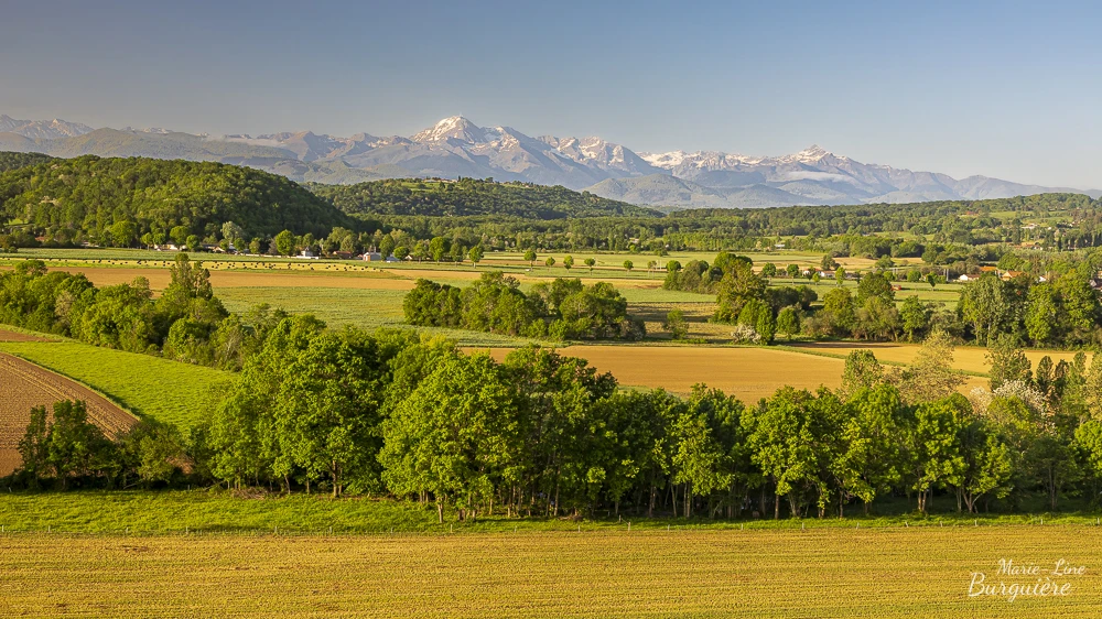
{"type": "Polygon", "coordinates": [[[1072,525],[7,534],[0,616],[1099,617],[1100,553],[1072,525]],[[996,595],[970,596],[977,579],[996,595]]]}

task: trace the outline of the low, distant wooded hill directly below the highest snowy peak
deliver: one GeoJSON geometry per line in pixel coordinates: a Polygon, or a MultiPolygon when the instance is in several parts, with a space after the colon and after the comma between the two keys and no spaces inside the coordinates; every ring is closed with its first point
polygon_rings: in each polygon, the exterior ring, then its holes
{"type": "Polygon", "coordinates": [[[530,183],[389,180],[356,185],[307,185],[348,214],[458,217],[500,215],[525,219],[568,217],[661,217],[631,204],[530,183]]]}

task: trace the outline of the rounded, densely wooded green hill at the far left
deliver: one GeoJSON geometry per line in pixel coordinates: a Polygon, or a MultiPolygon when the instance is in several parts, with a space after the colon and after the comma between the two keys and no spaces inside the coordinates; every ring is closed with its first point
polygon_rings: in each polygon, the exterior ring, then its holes
{"type": "MultiPolygon", "coordinates": [[[[7,156],[7,155],[4,155],[7,156]]],[[[117,222],[136,237],[183,226],[199,238],[222,225],[245,238],[289,229],[329,234],[353,220],[283,176],[212,162],[158,159],[50,160],[0,174],[0,224],[18,221],[35,235],[99,242],[117,222]]]]}

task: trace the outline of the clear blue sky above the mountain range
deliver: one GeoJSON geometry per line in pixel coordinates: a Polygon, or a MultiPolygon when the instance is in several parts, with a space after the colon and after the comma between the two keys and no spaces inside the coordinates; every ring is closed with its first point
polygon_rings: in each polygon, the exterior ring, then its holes
{"type": "Polygon", "coordinates": [[[1016,2],[6,2],[0,113],[410,134],[462,113],[636,151],[1102,188],[1102,8],[1016,2]]]}

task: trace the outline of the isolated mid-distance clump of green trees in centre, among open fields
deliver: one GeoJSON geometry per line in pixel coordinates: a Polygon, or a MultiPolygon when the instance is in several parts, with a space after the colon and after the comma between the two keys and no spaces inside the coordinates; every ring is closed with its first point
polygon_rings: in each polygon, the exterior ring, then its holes
{"type": "Polygon", "coordinates": [[[520,290],[500,272],[483,273],[471,286],[418,280],[402,308],[417,326],[455,327],[551,339],[640,339],[642,321],[627,313],[627,300],[607,282],[582,284],[557,278],[520,290]]]}

